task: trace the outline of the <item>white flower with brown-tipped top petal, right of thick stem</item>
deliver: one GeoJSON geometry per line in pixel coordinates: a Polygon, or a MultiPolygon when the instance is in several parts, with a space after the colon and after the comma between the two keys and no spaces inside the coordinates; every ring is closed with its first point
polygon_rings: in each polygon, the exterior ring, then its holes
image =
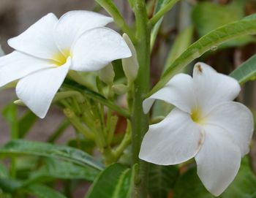
{"type": "Polygon", "coordinates": [[[167,117],[151,125],[140,159],[154,164],[179,164],[195,157],[197,175],[218,196],[235,178],[241,157],[249,152],[252,113],[232,102],[240,91],[232,77],[198,63],[193,77],[178,74],[143,102],[147,113],[155,99],[175,105],[167,117]]]}

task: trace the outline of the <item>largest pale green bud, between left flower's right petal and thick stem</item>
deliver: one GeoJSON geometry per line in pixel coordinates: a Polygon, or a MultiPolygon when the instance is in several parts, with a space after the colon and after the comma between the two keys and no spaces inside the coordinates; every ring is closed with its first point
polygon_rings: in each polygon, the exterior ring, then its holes
{"type": "Polygon", "coordinates": [[[127,45],[132,52],[131,57],[122,59],[124,74],[129,81],[134,81],[138,75],[139,68],[137,53],[134,45],[132,44],[132,41],[129,39],[127,34],[123,34],[123,39],[125,40],[125,42],[127,42],[127,45]]]}

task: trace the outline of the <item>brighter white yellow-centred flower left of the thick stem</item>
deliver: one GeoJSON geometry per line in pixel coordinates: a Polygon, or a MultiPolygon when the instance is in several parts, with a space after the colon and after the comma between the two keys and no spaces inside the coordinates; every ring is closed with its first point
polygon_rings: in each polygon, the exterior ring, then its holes
{"type": "Polygon", "coordinates": [[[70,11],[60,19],[45,15],[18,37],[15,50],[0,58],[0,86],[19,80],[18,98],[44,118],[69,70],[91,72],[131,56],[116,31],[103,26],[113,19],[89,11],[70,11]]]}

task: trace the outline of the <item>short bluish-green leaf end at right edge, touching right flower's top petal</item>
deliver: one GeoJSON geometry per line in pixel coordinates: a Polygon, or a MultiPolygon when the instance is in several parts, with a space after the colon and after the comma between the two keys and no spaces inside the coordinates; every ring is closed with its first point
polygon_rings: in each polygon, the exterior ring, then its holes
{"type": "Polygon", "coordinates": [[[243,64],[238,66],[230,73],[231,77],[236,78],[239,83],[243,84],[249,80],[255,80],[256,77],[256,55],[249,58],[243,64]]]}

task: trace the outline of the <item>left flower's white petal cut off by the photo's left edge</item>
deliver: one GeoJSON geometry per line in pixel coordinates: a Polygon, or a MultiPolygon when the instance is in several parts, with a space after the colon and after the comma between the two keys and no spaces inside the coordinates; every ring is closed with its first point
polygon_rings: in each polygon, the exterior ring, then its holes
{"type": "Polygon", "coordinates": [[[52,66],[53,64],[44,59],[14,51],[0,58],[0,86],[29,75],[31,72],[52,66]]]}

